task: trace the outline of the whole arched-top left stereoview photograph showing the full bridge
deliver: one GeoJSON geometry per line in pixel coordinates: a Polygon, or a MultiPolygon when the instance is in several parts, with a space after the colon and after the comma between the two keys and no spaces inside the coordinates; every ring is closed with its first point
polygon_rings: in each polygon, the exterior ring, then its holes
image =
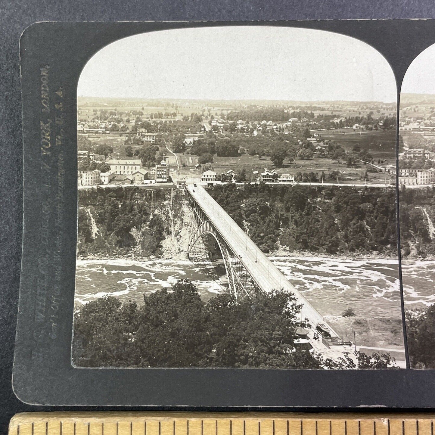
{"type": "Polygon", "coordinates": [[[396,83],[374,48],[126,37],[81,73],[77,137],[74,367],[405,368],[396,83]]]}

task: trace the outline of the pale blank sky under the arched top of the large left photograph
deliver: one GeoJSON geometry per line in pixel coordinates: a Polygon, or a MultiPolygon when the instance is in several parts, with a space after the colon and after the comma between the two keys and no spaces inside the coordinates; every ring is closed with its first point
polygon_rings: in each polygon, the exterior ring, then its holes
{"type": "Polygon", "coordinates": [[[396,100],[374,48],[322,30],[268,26],[161,30],[127,37],[85,65],[78,96],[198,100],[396,100]]]}

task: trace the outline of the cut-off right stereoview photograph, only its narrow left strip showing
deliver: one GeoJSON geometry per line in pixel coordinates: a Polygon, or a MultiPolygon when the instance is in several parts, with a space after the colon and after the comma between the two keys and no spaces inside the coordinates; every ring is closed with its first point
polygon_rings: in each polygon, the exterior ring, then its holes
{"type": "Polygon", "coordinates": [[[398,171],[409,361],[435,368],[435,45],[402,82],[398,171]]]}

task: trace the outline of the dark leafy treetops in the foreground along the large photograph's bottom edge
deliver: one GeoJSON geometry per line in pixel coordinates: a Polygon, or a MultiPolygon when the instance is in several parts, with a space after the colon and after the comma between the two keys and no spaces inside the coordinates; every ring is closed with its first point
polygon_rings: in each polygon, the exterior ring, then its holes
{"type": "Polygon", "coordinates": [[[108,296],[74,316],[78,367],[394,368],[388,354],[332,360],[296,348],[301,306],[286,292],[230,293],[203,301],[187,279],[144,294],[144,303],[108,296]],[[356,362],[355,362],[356,361],[356,362]]]}

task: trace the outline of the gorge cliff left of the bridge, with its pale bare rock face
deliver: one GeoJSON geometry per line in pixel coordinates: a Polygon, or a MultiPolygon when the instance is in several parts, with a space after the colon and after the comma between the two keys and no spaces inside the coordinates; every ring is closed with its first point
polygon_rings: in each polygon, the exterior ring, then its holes
{"type": "Polygon", "coordinates": [[[79,197],[77,257],[186,259],[193,213],[184,192],[124,189],[79,197]]]}

